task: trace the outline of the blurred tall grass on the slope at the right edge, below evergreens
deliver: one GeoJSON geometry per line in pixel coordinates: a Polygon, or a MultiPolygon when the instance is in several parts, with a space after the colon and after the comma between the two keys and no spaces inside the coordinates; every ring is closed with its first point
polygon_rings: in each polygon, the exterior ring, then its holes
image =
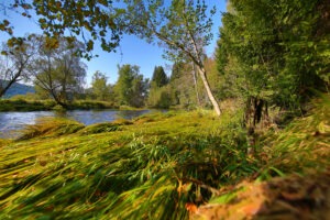
{"type": "Polygon", "coordinates": [[[258,152],[265,164],[261,178],[329,167],[329,95],[314,101],[309,116],[294,120],[284,131],[268,132],[258,152]]]}

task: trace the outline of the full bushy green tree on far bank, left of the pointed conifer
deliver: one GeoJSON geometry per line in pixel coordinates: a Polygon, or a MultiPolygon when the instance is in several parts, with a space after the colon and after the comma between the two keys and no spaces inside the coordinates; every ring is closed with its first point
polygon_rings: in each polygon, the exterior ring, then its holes
{"type": "Polygon", "coordinates": [[[146,97],[147,80],[140,75],[140,67],[125,64],[118,66],[118,81],[114,91],[121,105],[142,107],[146,97]]]}

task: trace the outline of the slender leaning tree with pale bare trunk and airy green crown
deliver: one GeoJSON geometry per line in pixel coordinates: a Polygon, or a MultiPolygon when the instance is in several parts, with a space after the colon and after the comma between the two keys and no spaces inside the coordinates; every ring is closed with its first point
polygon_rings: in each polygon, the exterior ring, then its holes
{"type": "MultiPolygon", "coordinates": [[[[212,21],[208,18],[206,2],[174,0],[168,4],[161,0],[127,0],[125,3],[127,11],[123,16],[128,24],[124,30],[147,42],[157,41],[164,46],[166,58],[191,61],[197,67],[215,111],[220,116],[219,103],[210,89],[202,58],[204,47],[212,37],[212,21]]],[[[210,10],[210,14],[213,13],[215,9],[210,10]]]]}

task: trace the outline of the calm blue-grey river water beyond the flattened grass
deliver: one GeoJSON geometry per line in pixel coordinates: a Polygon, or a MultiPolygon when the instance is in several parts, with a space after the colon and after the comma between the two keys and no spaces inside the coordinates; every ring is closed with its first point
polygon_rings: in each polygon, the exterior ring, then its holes
{"type": "Polygon", "coordinates": [[[86,125],[111,122],[116,119],[133,119],[135,117],[148,113],[151,110],[101,110],[101,111],[84,111],[74,110],[67,112],[55,111],[33,111],[33,112],[0,112],[0,138],[13,138],[19,135],[19,130],[28,124],[35,124],[37,119],[44,117],[62,117],[79,121],[86,125]]]}

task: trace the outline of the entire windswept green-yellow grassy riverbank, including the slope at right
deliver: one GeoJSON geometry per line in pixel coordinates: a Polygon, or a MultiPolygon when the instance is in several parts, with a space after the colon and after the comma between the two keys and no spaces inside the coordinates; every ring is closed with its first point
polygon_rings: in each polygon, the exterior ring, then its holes
{"type": "Polygon", "coordinates": [[[1,219],[187,219],[243,179],[329,166],[329,97],[260,138],[239,114],[167,112],[84,127],[43,121],[0,141],[1,219]]]}

